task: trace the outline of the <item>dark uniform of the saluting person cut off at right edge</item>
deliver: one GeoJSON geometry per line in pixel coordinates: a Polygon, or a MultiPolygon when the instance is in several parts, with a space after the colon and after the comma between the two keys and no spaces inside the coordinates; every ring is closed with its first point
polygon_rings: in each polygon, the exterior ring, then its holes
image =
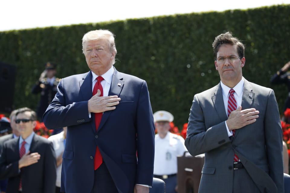
{"type": "Polygon", "coordinates": [[[290,71],[284,72],[279,70],[274,76],[271,78],[272,84],[286,84],[288,87],[288,97],[286,99],[283,112],[286,108],[290,108],[290,71]]]}

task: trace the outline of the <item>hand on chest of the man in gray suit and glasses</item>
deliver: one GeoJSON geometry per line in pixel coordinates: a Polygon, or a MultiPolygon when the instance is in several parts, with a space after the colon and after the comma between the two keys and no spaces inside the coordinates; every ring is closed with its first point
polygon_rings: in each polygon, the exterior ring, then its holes
{"type": "Polygon", "coordinates": [[[226,121],[227,127],[229,130],[239,129],[246,125],[249,125],[256,121],[259,117],[259,111],[256,109],[244,109],[239,106],[237,110],[234,110],[230,113],[229,118],[226,121]]]}

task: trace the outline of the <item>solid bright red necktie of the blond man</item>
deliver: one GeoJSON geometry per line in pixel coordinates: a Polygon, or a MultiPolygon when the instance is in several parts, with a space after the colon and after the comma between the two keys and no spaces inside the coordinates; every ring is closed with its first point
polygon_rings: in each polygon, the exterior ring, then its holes
{"type": "MultiPolygon", "coordinates": [[[[101,81],[104,80],[104,78],[101,76],[98,76],[96,79],[97,79],[97,82],[96,82],[94,89],[93,89],[93,96],[98,92],[98,89],[101,91],[100,96],[103,96],[103,87],[101,85],[101,81]]],[[[98,131],[98,127],[100,125],[102,115],[103,115],[103,112],[95,113],[96,131],[98,131]]],[[[102,158],[101,152],[99,150],[99,147],[97,146],[96,153],[95,153],[95,159],[94,159],[95,170],[98,169],[98,167],[102,164],[102,162],[103,162],[103,158],[102,158]]]]}

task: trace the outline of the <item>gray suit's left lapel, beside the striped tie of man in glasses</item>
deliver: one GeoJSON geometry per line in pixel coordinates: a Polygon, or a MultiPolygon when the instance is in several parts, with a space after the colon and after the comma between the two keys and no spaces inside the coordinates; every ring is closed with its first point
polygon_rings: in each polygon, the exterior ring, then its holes
{"type": "Polygon", "coordinates": [[[221,83],[216,86],[216,89],[214,91],[214,95],[211,96],[212,103],[214,104],[214,108],[218,113],[218,116],[220,117],[221,121],[227,120],[227,113],[224,109],[224,99],[223,99],[223,93],[221,89],[221,83]]]}

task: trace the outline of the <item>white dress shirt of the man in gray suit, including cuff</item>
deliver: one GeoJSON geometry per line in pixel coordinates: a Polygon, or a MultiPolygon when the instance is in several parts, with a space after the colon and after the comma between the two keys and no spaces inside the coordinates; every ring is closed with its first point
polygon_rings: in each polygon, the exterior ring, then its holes
{"type": "MultiPolygon", "coordinates": [[[[242,77],[242,80],[233,88],[235,91],[234,97],[235,97],[236,102],[237,102],[237,108],[239,106],[241,106],[241,104],[242,104],[243,88],[244,88],[244,78],[242,77]]],[[[226,113],[227,113],[227,102],[228,102],[229,96],[230,96],[230,93],[229,93],[230,89],[231,89],[230,87],[227,87],[226,85],[224,85],[221,82],[221,90],[222,90],[223,99],[224,99],[224,109],[226,110],[226,113]]],[[[233,132],[229,131],[229,128],[227,127],[227,122],[225,122],[225,124],[226,124],[226,128],[227,128],[227,134],[230,137],[233,135],[233,132]]]]}

